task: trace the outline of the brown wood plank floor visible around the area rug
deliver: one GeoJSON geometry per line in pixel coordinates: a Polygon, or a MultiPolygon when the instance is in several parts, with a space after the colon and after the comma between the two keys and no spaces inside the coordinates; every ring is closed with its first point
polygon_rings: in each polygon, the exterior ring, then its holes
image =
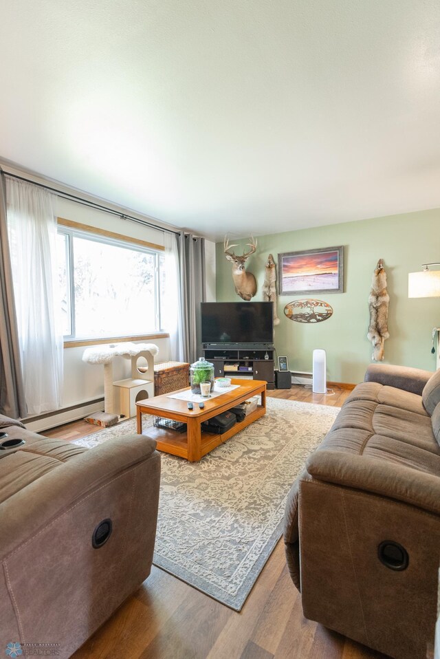
{"type": "MultiPolygon", "coordinates": [[[[314,394],[295,385],[268,396],[339,407],[350,391],[314,394]]],[[[99,431],[82,421],[45,431],[75,440],[99,431]]],[[[240,613],[153,566],[151,575],[74,659],[383,659],[306,620],[278,542],[240,613]]]]}

